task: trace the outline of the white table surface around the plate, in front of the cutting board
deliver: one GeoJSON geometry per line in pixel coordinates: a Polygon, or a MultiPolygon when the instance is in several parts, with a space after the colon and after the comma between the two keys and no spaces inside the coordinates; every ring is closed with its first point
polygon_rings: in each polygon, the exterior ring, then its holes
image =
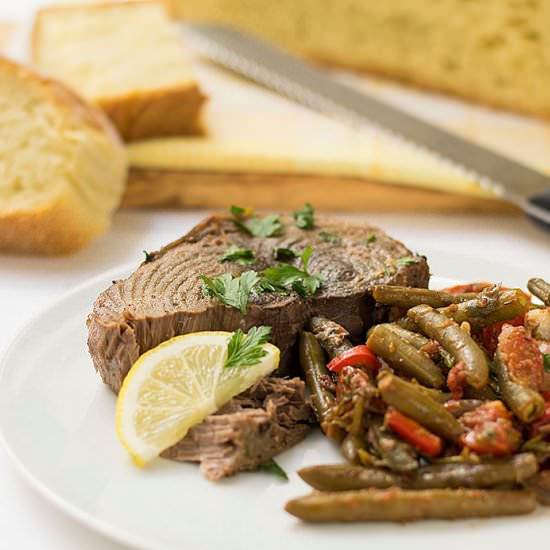
{"type": "MultiPolygon", "coordinates": [[[[128,262],[137,265],[142,250],[154,250],[177,238],[204,215],[191,211],[120,212],[110,233],[76,255],[57,259],[0,256],[0,354],[20,327],[50,301],[102,271],[128,262]]],[[[511,284],[521,284],[524,273],[550,278],[550,233],[521,217],[358,217],[426,253],[432,272],[438,275],[502,279],[511,284]],[[458,272],[449,272],[449,255],[466,254],[473,261],[465,261],[458,272]]],[[[0,533],[0,546],[10,549],[121,548],[81,527],[35,493],[2,450],[0,533]]]]}

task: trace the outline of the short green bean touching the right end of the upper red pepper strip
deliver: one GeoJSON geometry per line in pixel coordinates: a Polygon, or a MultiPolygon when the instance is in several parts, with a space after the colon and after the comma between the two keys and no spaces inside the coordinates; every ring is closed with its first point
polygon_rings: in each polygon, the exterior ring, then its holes
{"type": "Polygon", "coordinates": [[[441,388],[445,377],[425,354],[401,339],[389,325],[377,325],[370,332],[367,346],[382,357],[394,370],[431,388],[441,388]]]}

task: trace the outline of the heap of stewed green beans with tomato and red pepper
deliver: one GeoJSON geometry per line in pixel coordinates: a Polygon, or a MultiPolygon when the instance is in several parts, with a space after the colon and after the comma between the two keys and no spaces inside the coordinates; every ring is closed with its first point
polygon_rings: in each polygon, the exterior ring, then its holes
{"type": "Polygon", "coordinates": [[[550,284],[378,285],[366,345],[326,318],[300,339],[322,430],[347,464],[304,468],[312,522],[529,513],[550,502],[550,284]]]}

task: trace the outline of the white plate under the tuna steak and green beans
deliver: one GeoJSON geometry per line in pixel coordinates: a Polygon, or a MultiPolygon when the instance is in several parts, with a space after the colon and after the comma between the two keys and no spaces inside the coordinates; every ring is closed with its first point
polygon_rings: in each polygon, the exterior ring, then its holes
{"type": "MultiPolygon", "coordinates": [[[[311,526],[283,511],[308,492],[296,470],[340,462],[319,432],[280,455],[284,483],[261,473],[211,483],[193,464],[131,463],[115,435],[115,396],[95,374],[85,319],[119,269],[80,286],[40,314],[16,338],[0,366],[0,435],[21,472],[46,498],[82,523],[142,548],[200,550],[423,550],[498,545],[517,550],[550,539],[548,511],[520,518],[408,525],[311,526]],[[478,546],[479,545],[479,546],[478,546]]],[[[434,286],[449,280],[433,278],[434,286]]]]}

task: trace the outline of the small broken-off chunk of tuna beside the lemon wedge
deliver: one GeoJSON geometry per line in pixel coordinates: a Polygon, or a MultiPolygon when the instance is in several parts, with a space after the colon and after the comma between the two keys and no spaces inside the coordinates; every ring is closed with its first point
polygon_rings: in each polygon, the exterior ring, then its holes
{"type": "Polygon", "coordinates": [[[299,378],[265,378],[194,426],[165,458],[200,462],[211,480],[260,464],[304,439],[313,423],[299,378]]]}

